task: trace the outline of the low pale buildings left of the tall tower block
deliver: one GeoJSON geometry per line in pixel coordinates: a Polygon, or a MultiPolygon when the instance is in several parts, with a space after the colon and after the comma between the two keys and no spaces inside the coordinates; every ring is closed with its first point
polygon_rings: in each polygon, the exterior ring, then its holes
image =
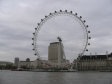
{"type": "Polygon", "coordinates": [[[30,61],[30,59],[27,58],[26,61],[20,61],[18,57],[15,58],[14,66],[24,69],[47,69],[51,67],[48,60],[36,59],[34,61],[30,61]]]}

